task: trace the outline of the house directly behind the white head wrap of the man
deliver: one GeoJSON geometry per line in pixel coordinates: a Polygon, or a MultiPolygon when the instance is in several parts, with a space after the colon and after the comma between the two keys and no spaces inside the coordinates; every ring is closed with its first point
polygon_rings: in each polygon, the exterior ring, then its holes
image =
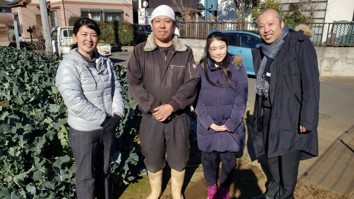
{"type": "MultiPolygon", "coordinates": [[[[184,9],[171,4],[171,0],[146,0],[148,7],[143,6],[145,0],[133,0],[133,22],[139,24],[150,24],[152,11],[160,5],[169,5],[175,11],[176,16],[181,17],[180,10],[188,10],[192,16],[203,12],[205,9],[199,0],[185,0],[184,9]]],[[[179,0],[178,0],[179,1],[179,0]]],[[[200,14],[198,14],[200,15],[200,14]]]]}

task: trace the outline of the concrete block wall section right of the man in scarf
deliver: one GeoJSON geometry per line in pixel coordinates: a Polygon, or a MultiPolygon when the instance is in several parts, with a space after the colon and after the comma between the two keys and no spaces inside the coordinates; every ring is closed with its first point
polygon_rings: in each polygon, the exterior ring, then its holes
{"type": "Polygon", "coordinates": [[[315,47],[321,78],[354,78],[354,47],[315,47]]]}

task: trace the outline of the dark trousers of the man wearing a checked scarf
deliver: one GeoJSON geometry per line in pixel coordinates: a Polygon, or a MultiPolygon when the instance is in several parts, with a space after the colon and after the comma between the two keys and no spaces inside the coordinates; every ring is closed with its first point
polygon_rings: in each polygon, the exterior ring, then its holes
{"type": "MultiPolygon", "coordinates": [[[[263,136],[265,146],[268,141],[270,109],[263,108],[263,136]]],[[[266,147],[267,151],[267,147],[266,147]]],[[[297,180],[300,151],[295,150],[282,156],[268,159],[271,174],[268,195],[271,199],[293,199],[297,180]]]]}

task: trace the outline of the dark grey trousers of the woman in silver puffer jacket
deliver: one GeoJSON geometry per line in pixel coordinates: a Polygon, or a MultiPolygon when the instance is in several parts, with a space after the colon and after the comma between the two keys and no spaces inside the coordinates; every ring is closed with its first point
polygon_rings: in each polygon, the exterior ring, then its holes
{"type": "Polygon", "coordinates": [[[76,163],[77,198],[108,199],[115,135],[103,130],[78,131],[70,127],[69,138],[76,163]]]}

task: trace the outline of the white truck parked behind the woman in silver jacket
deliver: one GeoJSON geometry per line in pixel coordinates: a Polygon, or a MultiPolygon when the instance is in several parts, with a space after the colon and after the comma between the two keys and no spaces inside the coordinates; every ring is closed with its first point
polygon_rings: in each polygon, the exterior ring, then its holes
{"type": "MultiPolygon", "coordinates": [[[[72,38],[73,26],[54,28],[51,33],[53,54],[62,58],[69,53],[71,44],[75,43],[72,38]]],[[[98,44],[101,49],[101,55],[111,55],[110,44],[98,44]]]]}

